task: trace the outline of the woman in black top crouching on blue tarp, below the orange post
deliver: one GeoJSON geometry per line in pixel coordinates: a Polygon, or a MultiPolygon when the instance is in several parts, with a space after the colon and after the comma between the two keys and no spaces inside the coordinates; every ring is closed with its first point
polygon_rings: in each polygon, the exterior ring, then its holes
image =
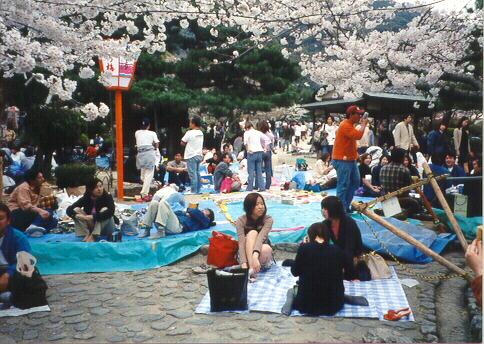
{"type": "Polygon", "coordinates": [[[86,184],[84,195],[66,212],[74,220],[76,236],[84,236],[82,241],[94,242],[114,231],[114,200],[97,178],[86,184]]]}

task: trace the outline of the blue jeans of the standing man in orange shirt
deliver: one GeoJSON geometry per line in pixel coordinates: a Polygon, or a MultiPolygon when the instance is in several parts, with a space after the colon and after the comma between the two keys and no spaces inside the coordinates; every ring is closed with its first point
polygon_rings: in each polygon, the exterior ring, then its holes
{"type": "Polygon", "coordinates": [[[356,161],[333,160],[332,164],[338,176],[336,195],[343,203],[345,211],[350,212],[353,195],[360,186],[360,171],[356,161]]]}

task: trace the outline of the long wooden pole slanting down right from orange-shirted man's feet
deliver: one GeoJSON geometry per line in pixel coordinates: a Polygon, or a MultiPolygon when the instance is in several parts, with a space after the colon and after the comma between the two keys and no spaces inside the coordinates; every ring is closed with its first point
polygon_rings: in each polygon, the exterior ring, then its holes
{"type": "Polygon", "coordinates": [[[441,255],[435,253],[430,248],[428,248],[427,246],[422,244],[420,241],[418,241],[417,239],[415,239],[414,237],[412,237],[408,233],[402,231],[401,229],[398,229],[397,227],[392,225],[390,222],[386,221],[384,218],[382,218],[382,217],[378,216],[377,214],[375,214],[374,212],[370,211],[366,207],[366,204],[358,203],[356,201],[353,201],[351,204],[353,205],[353,207],[355,209],[357,209],[358,211],[360,211],[364,215],[368,216],[370,219],[374,220],[375,222],[378,222],[379,224],[381,224],[383,227],[388,229],[390,232],[392,232],[396,236],[402,238],[403,240],[405,240],[409,244],[415,246],[420,251],[425,253],[427,256],[432,257],[435,261],[442,264],[443,266],[445,266],[449,270],[451,270],[455,273],[458,273],[459,275],[463,276],[464,278],[466,278],[468,280],[472,279],[463,269],[459,268],[457,265],[448,261],[447,259],[445,259],[441,255]]]}

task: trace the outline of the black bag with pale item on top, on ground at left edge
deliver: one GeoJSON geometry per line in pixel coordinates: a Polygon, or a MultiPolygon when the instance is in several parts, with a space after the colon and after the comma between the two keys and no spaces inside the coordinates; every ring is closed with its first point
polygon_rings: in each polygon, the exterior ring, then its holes
{"type": "Polygon", "coordinates": [[[12,304],[20,309],[47,304],[47,283],[35,267],[36,259],[28,252],[17,253],[17,271],[8,281],[12,304]]]}

